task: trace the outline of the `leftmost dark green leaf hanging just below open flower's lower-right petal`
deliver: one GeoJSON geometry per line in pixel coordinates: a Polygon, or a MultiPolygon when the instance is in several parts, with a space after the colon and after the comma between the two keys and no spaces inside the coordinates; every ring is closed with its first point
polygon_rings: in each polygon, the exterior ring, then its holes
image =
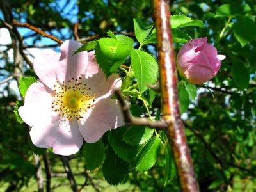
{"type": "Polygon", "coordinates": [[[95,170],[102,164],[104,158],[104,145],[101,140],[96,143],[84,142],[83,156],[86,161],[86,169],[95,170]]]}

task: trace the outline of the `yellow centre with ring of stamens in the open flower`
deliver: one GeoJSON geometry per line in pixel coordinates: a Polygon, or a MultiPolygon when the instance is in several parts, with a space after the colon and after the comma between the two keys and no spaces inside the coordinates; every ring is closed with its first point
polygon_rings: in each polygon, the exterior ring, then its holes
{"type": "Polygon", "coordinates": [[[83,115],[92,108],[96,94],[90,93],[91,88],[83,83],[82,78],[70,79],[67,82],[54,84],[54,94],[51,95],[52,109],[62,118],[73,120],[83,118],[83,115]],[[93,95],[93,97],[92,97],[93,95]]]}

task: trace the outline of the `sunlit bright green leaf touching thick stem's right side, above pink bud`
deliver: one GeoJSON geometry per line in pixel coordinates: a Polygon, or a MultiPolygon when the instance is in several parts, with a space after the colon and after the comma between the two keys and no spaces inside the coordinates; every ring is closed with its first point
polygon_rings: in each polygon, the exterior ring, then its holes
{"type": "Polygon", "coordinates": [[[173,15],[171,17],[171,26],[174,28],[188,27],[188,26],[198,26],[204,28],[204,22],[198,19],[191,19],[185,15],[173,15]]]}

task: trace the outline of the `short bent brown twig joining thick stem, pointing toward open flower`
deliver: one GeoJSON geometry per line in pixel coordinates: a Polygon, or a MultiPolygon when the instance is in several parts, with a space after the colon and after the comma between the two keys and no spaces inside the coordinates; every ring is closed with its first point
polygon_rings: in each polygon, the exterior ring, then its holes
{"type": "Polygon", "coordinates": [[[167,122],[164,120],[159,120],[159,121],[151,121],[148,118],[141,118],[141,117],[133,117],[131,116],[131,112],[129,109],[129,106],[125,102],[125,100],[122,97],[122,94],[119,90],[115,90],[117,99],[120,102],[120,105],[122,107],[122,112],[124,115],[124,120],[127,122],[127,124],[131,125],[145,125],[150,128],[154,129],[166,129],[168,127],[167,122]]]}

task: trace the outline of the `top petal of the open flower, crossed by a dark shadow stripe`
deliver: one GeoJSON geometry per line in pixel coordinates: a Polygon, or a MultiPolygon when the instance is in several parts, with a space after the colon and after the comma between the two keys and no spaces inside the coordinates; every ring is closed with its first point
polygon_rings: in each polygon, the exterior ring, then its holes
{"type": "Polygon", "coordinates": [[[43,50],[34,61],[36,75],[52,89],[57,79],[62,82],[72,79],[72,77],[83,76],[87,68],[88,53],[83,51],[74,54],[74,51],[81,45],[74,40],[67,40],[60,47],[61,54],[52,49],[43,50]]]}

